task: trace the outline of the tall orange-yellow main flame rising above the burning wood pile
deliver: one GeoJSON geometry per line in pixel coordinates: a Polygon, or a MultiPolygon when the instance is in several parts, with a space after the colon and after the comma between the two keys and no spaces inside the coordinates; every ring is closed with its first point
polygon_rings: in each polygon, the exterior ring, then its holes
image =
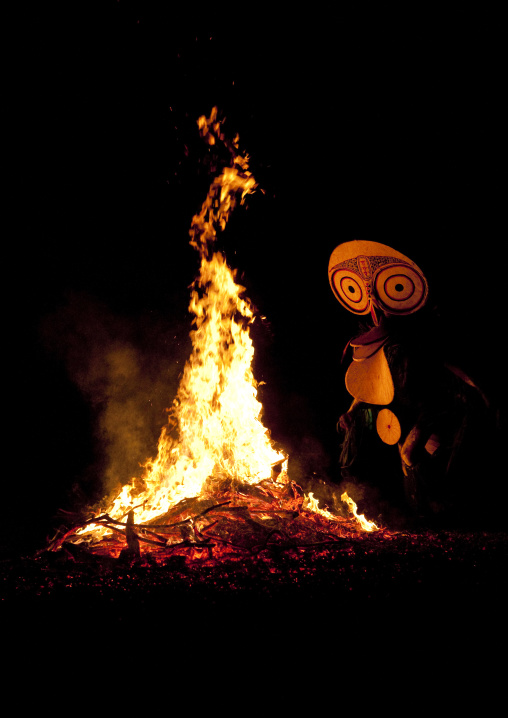
{"type": "MultiPolygon", "coordinates": [[[[145,464],[143,491],[136,491],[131,482],[107,510],[120,519],[136,504],[137,523],[149,522],[178,501],[199,495],[211,477],[257,483],[270,478],[275,464],[283,462],[282,480],[287,469],[287,457],[274,448],[261,422],[262,405],[252,373],[252,307],[242,298],[244,287],[236,283],[224,257],[210,251],[217,227],[225,228],[238,196],[243,203],[256,182],[248,170],[248,157],[236,152],[237,138],[233,144],[225,141],[216,108],[210,118],[199,118],[198,126],[211,144],[216,137],[225,142],[232,163],[213,180],[192,220],[191,245],[201,257],[189,305],[195,325],[192,353],[157,456],[145,464]]],[[[89,531],[100,537],[106,530],[92,525],[81,533],[89,531]]]]}

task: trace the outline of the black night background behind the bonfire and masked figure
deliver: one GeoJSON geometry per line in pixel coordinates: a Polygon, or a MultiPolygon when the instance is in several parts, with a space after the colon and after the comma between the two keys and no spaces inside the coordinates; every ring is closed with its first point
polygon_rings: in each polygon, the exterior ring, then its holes
{"type": "Polygon", "coordinates": [[[336,478],[341,354],[357,329],[328,285],[340,242],[413,259],[439,307],[436,343],[502,404],[496,18],[161,7],[28,7],[13,27],[11,546],[43,543],[58,508],[103,493],[111,402],[142,417],[126,471],[155,451],[190,351],[188,230],[224,158],[197,131],[213,106],[263,190],[218,248],[266,317],[256,377],[295,474],[336,478]],[[112,357],[131,360],[120,382],[112,357]]]}

